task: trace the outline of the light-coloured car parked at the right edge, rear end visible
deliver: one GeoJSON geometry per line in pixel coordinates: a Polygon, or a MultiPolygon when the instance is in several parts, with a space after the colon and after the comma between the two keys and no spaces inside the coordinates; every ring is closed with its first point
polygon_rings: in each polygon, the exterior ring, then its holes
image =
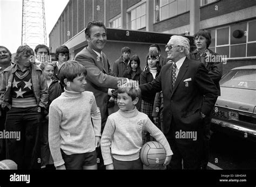
{"type": "Polygon", "coordinates": [[[220,80],[212,131],[256,140],[256,65],[229,70],[220,80]]]}

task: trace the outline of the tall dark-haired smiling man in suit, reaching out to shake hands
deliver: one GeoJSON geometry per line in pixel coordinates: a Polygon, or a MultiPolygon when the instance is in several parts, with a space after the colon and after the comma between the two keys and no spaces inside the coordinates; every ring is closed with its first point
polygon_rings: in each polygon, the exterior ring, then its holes
{"type": "MultiPolygon", "coordinates": [[[[114,77],[115,74],[110,69],[109,61],[102,52],[107,38],[106,27],[102,21],[93,20],[87,24],[85,37],[88,46],[80,51],[75,60],[85,66],[87,70],[86,91],[91,91],[95,95],[97,106],[102,117],[102,132],[106,124],[107,116],[107,91],[109,88],[117,89],[120,85],[127,82],[127,78],[114,77]]],[[[97,148],[99,156],[99,168],[102,168],[103,159],[100,148],[97,148]]]]}

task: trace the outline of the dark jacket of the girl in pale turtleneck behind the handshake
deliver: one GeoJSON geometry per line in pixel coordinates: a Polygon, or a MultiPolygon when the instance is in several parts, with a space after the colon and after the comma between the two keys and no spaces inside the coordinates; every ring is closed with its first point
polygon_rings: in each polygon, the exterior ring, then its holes
{"type": "MultiPolygon", "coordinates": [[[[159,75],[159,71],[156,74],[156,78],[159,75]]],[[[143,71],[140,74],[140,84],[146,84],[149,82],[152,82],[154,80],[153,75],[150,73],[149,68],[146,68],[145,71],[143,71]]],[[[142,99],[147,102],[154,104],[154,97],[156,97],[156,92],[148,91],[147,94],[142,95],[142,99]]]]}

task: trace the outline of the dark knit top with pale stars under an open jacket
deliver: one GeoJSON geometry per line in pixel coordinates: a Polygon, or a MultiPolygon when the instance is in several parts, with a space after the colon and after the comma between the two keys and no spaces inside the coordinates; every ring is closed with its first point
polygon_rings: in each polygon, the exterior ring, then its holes
{"type": "Polygon", "coordinates": [[[32,91],[30,72],[28,69],[23,75],[19,75],[18,70],[14,73],[11,89],[12,107],[37,106],[36,97],[32,91]]]}

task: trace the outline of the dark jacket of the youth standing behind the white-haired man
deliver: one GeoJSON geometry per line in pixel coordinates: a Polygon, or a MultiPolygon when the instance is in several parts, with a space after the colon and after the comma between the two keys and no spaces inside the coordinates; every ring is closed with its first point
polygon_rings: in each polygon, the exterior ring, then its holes
{"type": "MultiPolygon", "coordinates": [[[[217,62],[217,60],[219,59],[217,56],[219,56],[219,54],[214,53],[210,49],[208,49],[208,51],[210,52],[211,57],[208,57],[208,59],[206,57],[205,67],[208,71],[209,76],[212,78],[212,81],[216,85],[218,89],[218,95],[220,96],[219,81],[223,74],[223,63],[219,61],[217,62]]],[[[197,50],[190,53],[190,59],[200,61],[200,55],[198,54],[197,50]]]]}

